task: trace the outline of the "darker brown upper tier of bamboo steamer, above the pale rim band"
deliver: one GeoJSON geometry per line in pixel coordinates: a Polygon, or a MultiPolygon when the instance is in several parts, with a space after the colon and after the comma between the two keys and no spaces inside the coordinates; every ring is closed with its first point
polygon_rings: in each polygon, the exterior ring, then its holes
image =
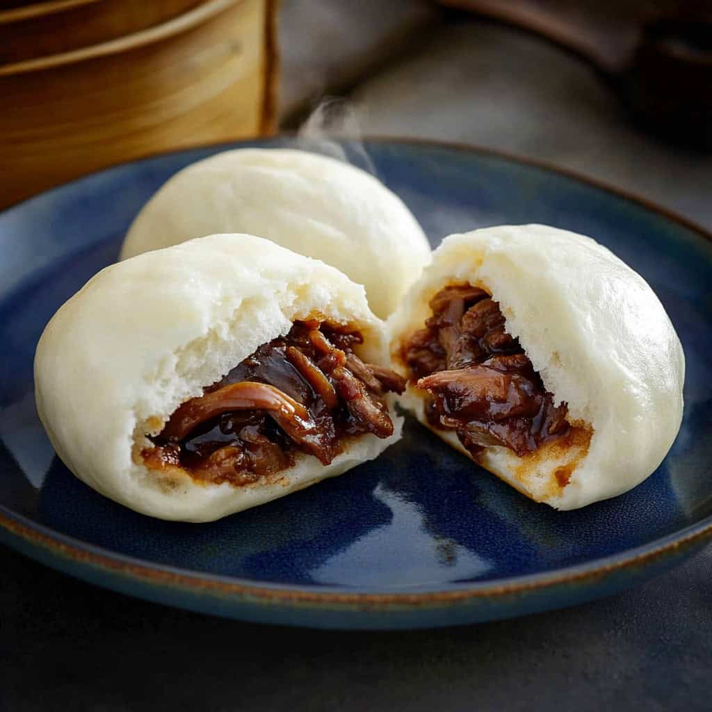
{"type": "Polygon", "coordinates": [[[0,9],[0,64],[108,42],[177,17],[206,0],[51,0],[0,9]]]}

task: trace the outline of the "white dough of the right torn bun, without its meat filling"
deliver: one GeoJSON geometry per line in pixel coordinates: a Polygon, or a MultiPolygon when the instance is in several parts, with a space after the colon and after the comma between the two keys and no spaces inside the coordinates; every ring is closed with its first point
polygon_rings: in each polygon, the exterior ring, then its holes
{"type": "MultiPolygon", "coordinates": [[[[590,443],[553,439],[523,457],[489,446],[478,456],[481,465],[557,509],[626,492],[659,466],[682,419],[685,361],[641,276],[594,240],[544,225],[449,236],[389,320],[401,372],[402,340],[423,327],[431,297],[458,282],[493,296],[555,404],[567,402],[567,420],[592,431],[590,443]]],[[[409,384],[401,402],[427,424],[423,396],[409,384]]],[[[467,454],[454,431],[433,431],[467,454]]]]}

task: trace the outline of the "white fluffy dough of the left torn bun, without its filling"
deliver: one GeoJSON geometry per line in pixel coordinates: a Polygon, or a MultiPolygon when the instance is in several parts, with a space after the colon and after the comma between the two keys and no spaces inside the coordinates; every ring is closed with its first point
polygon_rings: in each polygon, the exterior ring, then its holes
{"type": "Polygon", "coordinates": [[[40,418],[66,466],[95,490],[163,519],[209,521],[375,458],[394,434],[350,441],[328,466],[298,454],[266,481],[235,487],[162,476],[140,451],[179,404],[200,396],[294,320],[355,325],[360,354],[387,363],[382,322],[363,287],[335,268],[249,235],[214,235],[100,271],[47,325],[35,357],[40,418]]]}

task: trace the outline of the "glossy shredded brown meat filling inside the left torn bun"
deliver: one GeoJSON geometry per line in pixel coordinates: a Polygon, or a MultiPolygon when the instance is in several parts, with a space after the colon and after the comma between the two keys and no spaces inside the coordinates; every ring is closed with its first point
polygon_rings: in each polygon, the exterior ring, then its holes
{"type": "Polygon", "coordinates": [[[340,325],[295,322],[182,404],[142,451],[145,465],[242,486],[289,468],[300,452],[328,465],[354,436],[389,437],[384,395],[402,393],[405,379],[360,360],[362,342],[340,325]]]}

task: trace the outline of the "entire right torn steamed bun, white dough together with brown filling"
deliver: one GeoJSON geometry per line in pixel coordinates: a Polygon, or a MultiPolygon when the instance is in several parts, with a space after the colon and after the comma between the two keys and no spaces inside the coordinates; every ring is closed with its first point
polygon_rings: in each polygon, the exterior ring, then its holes
{"type": "Polygon", "coordinates": [[[659,466],[679,430],[684,354],[675,330],[647,283],[590,238],[543,225],[449,236],[389,329],[394,360],[411,378],[402,404],[449,444],[555,508],[575,509],[633,488],[659,466]],[[460,287],[442,291],[451,285],[460,287]],[[466,293],[464,285],[484,293],[466,293]],[[440,311],[429,331],[424,322],[434,314],[429,302],[436,295],[440,311]],[[475,305],[465,321],[453,295],[475,305]],[[497,305],[506,333],[518,342],[503,335],[497,305]],[[461,345],[447,341],[459,333],[451,330],[454,323],[476,337],[481,365],[475,370],[467,368],[471,353],[464,357],[461,345]],[[418,377],[443,368],[446,351],[450,369],[465,369],[426,375],[417,387],[418,377]],[[521,361],[526,356],[530,365],[521,361]],[[491,361],[481,362],[485,357],[491,361]],[[496,367],[488,370],[488,363],[496,367]],[[535,394],[541,404],[535,432],[517,420],[527,389],[541,389],[531,367],[550,400],[535,394]],[[520,373],[525,378],[512,377],[520,373]],[[490,402],[486,384],[499,394],[489,394],[490,402]],[[463,440],[457,430],[463,421],[448,418],[466,412],[479,420],[461,429],[463,440]],[[496,422],[507,413],[511,421],[496,422]]]}

